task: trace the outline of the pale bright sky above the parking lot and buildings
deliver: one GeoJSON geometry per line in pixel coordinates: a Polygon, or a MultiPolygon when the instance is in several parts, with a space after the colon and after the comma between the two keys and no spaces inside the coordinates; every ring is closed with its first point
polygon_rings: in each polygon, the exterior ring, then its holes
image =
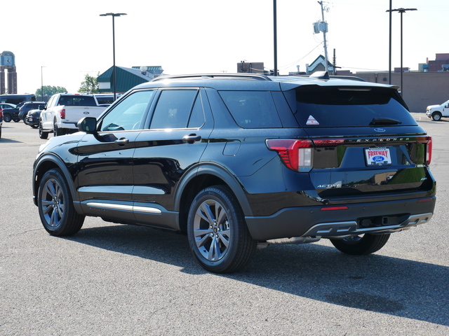
{"type": "MultiPolygon", "coordinates": [[[[388,71],[389,0],[323,1],[328,57],[342,69],[388,71]]],[[[316,0],[276,0],[277,66],[305,71],[324,55],[316,0]]],[[[0,3],[0,52],[15,55],[18,93],[43,85],[77,92],[86,74],[116,66],[162,66],[165,74],[235,73],[237,64],[274,69],[273,0],[15,0],[0,3]]],[[[449,53],[449,1],[392,0],[403,14],[403,66],[412,71],[449,53]]],[[[392,13],[392,67],[401,66],[401,14],[392,13]]]]}

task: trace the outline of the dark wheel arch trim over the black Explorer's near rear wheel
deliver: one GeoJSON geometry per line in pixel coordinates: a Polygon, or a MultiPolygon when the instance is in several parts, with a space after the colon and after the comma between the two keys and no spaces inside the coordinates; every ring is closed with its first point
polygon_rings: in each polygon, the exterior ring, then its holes
{"type": "Polygon", "coordinates": [[[178,223],[182,232],[187,232],[187,216],[194,197],[204,188],[216,185],[228,186],[239,202],[243,216],[253,216],[248,197],[236,176],[219,165],[201,165],[185,174],[173,197],[173,209],[179,213],[178,223]]]}

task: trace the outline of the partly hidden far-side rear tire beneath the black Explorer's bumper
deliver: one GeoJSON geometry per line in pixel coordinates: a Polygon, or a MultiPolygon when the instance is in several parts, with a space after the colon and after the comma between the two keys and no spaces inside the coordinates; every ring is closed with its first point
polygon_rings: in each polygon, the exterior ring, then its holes
{"type": "Polygon", "coordinates": [[[362,236],[351,237],[347,239],[330,239],[330,242],[339,251],[351,255],[364,255],[379,251],[387,244],[390,234],[370,235],[366,233],[362,236]]]}

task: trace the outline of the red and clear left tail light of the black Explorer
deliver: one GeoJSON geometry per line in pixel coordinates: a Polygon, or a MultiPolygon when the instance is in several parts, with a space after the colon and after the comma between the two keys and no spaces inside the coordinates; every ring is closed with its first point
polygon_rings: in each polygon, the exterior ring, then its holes
{"type": "Polygon", "coordinates": [[[268,139],[267,147],[276,151],[282,162],[296,172],[309,172],[312,167],[312,151],[314,143],[311,140],[268,139]]]}

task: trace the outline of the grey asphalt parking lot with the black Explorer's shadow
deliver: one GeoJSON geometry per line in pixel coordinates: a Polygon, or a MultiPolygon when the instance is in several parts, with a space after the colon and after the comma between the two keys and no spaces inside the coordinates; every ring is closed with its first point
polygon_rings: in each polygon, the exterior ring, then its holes
{"type": "Polygon", "coordinates": [[[449,335],[449,120],[413,114],[434,137],[430,223],[362,257],[269,246],[230,275],[197,265],[184,235],[98,218],[48,235],[31,191],[45,140],[4,123],[0,335],[449,335]]]}

